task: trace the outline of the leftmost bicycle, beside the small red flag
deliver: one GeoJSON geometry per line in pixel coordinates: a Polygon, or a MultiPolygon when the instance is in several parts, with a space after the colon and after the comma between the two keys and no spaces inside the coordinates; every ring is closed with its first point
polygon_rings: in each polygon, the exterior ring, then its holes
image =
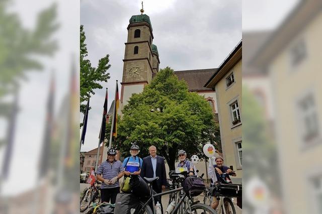
{"type": "Polygon", "coordinates": [[[80,201],[80,211],[84,212],[86,209],[88,209],[91,206],[91,203],[99,203],[101,200],[101,194],[100,194],[100,187],[96,186],[95,184],[100,184],[97,180],[93,183],[93,185],[87,187],[83,191],[83,196],[80,201]]]}

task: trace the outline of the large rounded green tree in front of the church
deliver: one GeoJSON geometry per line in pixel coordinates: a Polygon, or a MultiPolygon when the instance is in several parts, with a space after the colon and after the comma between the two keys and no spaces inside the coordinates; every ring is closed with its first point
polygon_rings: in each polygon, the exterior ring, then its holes
{"type": "Polygon", "coordinates": [[[140,156],[155,145],[170,169],[174,169],[179,149],[188,157],[203,157],[202,147],[214,129],[213,114],[207,101],[189,92],[187,83],[179,81],[173,69],[161,69],[143,92],[132,94],[122,111],[117,144],[128,153],[132,142],[141,147],[140,156]]]}

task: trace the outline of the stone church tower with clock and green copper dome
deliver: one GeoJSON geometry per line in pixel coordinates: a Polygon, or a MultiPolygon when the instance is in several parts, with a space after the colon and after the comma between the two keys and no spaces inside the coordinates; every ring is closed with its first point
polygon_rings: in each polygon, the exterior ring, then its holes
{"type": "Polygon", "coordinates": [[[150,18],[143,14],[132,16],[127,27],[127,42],[125,43],[124,66],[121,89],[122,108],[127,104],[132,93],[143,91],[158,72],[159,57],[157,48],[152,45],[153,33],[150,18]]]}

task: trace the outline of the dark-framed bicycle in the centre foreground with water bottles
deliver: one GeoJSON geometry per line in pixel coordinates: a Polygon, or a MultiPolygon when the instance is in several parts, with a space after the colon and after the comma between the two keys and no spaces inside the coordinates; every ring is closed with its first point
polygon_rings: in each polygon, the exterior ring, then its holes
{"type": "MultiPolygon", "coordinates": [[[[173,173],[171,176],[173,178],[176,177],[176,180],[181,183],[186,179],[186,177],[182,174],[173,173]]],[[[217,214],[217,212],[213,208],[211,208],[210,206],[207,206],[206,204],[203,204],[203,203],[199,203],[199,201],[194,202],[193,201],[193,196],[194,196],[193,193],[187,194],[186,191],[181,191],[181,190],[184,190],[183,187],[179,187],[179,188],[175,188],[175,189],[172,189],[169,191],[153,194],[152,182],[156,179],[158,179],[158,177],[155,177],[155,178],[144,177],[144,180],[149,185],[151,196],[149,197],[149,199],[146,200],[146,202],[143,204],[143,207],[141,207],[141,209],[139,209],[139,211],[137,213],[139,213],[139,214],[141,214],[141,213],[155,214],[156,213],[155,207],[154,207],[154,198],[155,197],[180,192],[180,197],[177,199],[178,201],[175,201],[176,205],[173,208],[173,210],[171,210],[170,212],[165,211],[165,213],[168,213],[168,214],[178,213],[178,211],[181,208],[182,213],[185,213],[185,214],[186,213],[217,214]],[[152,202],[152,204],[153,204],[152,209],[149,207],[150,202],[152,202]],[[145,212],[142,212],[143,210],[145,212]]],[[[173,194],[173,195],[176,195],[176,194],[173,194]]],[[[168,206],[168,208],[169,208],[169,206],[168,206]]],[[[169,210],[168,208],[167,208],[167,210],[169,210]]]]}

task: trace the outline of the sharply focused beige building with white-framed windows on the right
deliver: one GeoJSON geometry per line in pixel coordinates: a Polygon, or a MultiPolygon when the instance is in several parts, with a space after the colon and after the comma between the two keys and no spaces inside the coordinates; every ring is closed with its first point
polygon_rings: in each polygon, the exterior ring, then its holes
{"type": "Polygon", "coordinates": [[[234,183],[243,177],[241,130],[241,41],[205,87],[215,88],[224,165],[236,170],[234,183]]]}

